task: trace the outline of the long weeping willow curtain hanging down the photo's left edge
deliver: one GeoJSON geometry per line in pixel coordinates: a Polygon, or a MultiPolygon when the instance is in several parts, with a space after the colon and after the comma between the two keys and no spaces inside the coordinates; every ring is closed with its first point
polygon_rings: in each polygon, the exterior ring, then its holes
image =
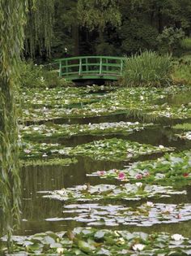
{"type": "MultiPolygon", "coordinates": [[[[11,241],[11,234],[20,219],[19,130],[15,91],[19,87],[18,67],[23,50],[24,28],[27,22],[31,22],[32,28],[36,29],[33,34],[35,43],[40,29],[37,20],[41,19],[40,24],[43,23],[43,15],[48,7],[53,7],[53,0],[0,0],[0,237],[6,234],[8,241],[11,241]],[[47,5],[47,2],[51,4],[47,5]],[[39,18],[28,18],[28,13],[35,10],[39,18]]],[[[53,11],[48,13],[52,15],[53,11]]],[[[51,26],[53,20],[52,17],[48,20],[47,14],[45,17],[47,20],[44,22],[49,21],[49,24],[45,24],[44,28],[51,26]]],[[[40,35],[48,47],[48,30],[43,30],[40,35]]]]}

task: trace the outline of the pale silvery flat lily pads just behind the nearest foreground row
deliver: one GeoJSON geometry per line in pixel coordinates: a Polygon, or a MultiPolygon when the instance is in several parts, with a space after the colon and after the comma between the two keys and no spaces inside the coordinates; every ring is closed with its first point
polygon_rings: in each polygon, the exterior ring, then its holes
{"type": "MultiPolygon", "coordinates": [[[[191,219],[190,204],[146,202],[141,206],[100,205],[96,203],[64,206],[61,220],[86,223],[88,226],[136,225],[150,227],[157,223],[179,223],[191,219]]],[[[46,219],[53,221],[54,219],[46,219]]]]}

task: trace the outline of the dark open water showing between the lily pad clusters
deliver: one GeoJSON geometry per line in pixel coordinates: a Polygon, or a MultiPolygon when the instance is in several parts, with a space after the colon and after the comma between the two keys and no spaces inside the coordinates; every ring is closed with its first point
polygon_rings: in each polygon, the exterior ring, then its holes
{"type": "MultiPolygon", "coordinates": [[[[183,95],[183,98],[178,95],[176,97],[168,98],[170,104],[181,104],[189,101],[188,94],[183,95]]],[[[71,107],[71,106],[70,106],[71,107]]],[[[55,119],[53,120],[56,124],[94,124],[102,122],[120,122],[120,121],[131,121],[131,122],[142,122],[146,120],[144,117],[118,114],[118,115],[107,115],[101,117],[82,118],[82,119],[55,119]]],[[[39,140],[40,142],[49,143],[61,143],[66,146],[75,146],[83,143],[87,143],[94,140],[101,140],[106,138],[122,138],[128,139],[129,141],[138,141],[139,143],[146,143],[151,145],[164,145],[176,147],[176,151],[189,150],[191,141],[182,140],[173,136],[172,124],[182,123],[185,120],[179,119],[166,119],[160,118],[155,120],[155,126],[152,128],[146,128],[140,132],[134,132],[132,134],[110,134],[107,136],[74,136],[70,138],[59,137],[57,139],[44,139],[39,140]]],[[[190,120],[187,120],[190,122],[190,120]]],[[[29,124],[29,123],[28,123],[29,124]]],[[[42,124],[42,122],[40,122],[42,124]]],[[[146,160],[152,158],[158,158],[162,154],[151,154],[140,158],[133,159],[129,162],[138,160],[146,160]]],[[[62,188],[69,188],[74,185],[90,183],[90,184],[120,184],[117,180],[100,180],[99,177],[86,176],[87,173],[98,170],[109,170],[112,168],[122,169],[129,162],[109,162],[109,161],[94,161],[91,158],[79,157],[79,162],[71,164],[68,167],[64,166],[49,166],[49,167],[23,167],[21,171],[22,181],[22,223],[15,234],[28,235],[36,232],[45,232],[48,230],[59,232],[62,230],[72,229],[76,226],[86,226],[86,223],[79,223],[74,220],[66,221],[59,220],[63,218],[62,210],[64,210],[65,202],[59,202],[56,200],[50,200],[42,197],[40,191],[48,191],[62,188]],[[46,220],[46,219],[52,219],[46,220]]],[[[152,202],[166,202],[166,203],[191,203],[191,187],[187,186],[184,189],[187,190],[186,196],[172,196],[170,198],[153,199],[152,202]]],[[[142,200],[141,202],[146,202],[142,200]]],[[[117,202],[110,202],[111,204],[121,204],[123,206],[136,206],[140,205],[141,202],[125,202],[118,200],[117,202]]],[[[185,236],[191,236],[191,229],[189,228],[191,220],[180,222],[180,223],[163,223],[155,224],[151,227],[136,227],[120,225],[118,229],[128,229],[129,232],[142,231],[142,232],[180,232],[185,236]]],[[[99,227],[100,228],[100,227],[99,227]]],[[[101,228],[105,228],[104,226],[101,228]]],[[[112,228],[112,227],[107,227],[112,228]]]]}

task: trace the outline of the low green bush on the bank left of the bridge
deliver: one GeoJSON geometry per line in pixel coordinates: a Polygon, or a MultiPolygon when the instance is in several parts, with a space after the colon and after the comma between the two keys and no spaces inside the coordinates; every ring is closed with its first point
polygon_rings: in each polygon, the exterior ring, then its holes
{"type": "Polygon", "coordinates": [[[21,86],[25,88],[36,87],[57,87],[69,86],[73,83],[58,76],[55,70],[48,70],[43,65],[37,65],[29,62],[21,62],[20,65],[21,86]]]}

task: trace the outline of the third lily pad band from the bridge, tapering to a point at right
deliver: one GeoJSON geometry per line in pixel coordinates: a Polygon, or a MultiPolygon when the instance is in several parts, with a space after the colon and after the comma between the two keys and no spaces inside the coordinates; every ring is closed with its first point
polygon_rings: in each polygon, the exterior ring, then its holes
{"type": "Polygon", "coordinates": [[[174,149],[164,147],[163,145],[146,145],[112,138],[92,141],[75,147],[64,147],[57,143],[24,143],[20,156],[21,158],[47,158],[53,155],[82,155],[96,160],[124,161],[144,154],[162,153],[172,150],[174,149]]]}

